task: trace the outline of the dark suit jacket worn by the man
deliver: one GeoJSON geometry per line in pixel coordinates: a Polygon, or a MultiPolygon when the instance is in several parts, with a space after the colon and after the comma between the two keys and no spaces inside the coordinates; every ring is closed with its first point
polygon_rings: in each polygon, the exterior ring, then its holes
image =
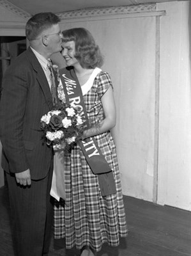
{"type": "Polygon", "coordinates": [[[52,109],[47,78],[29,47],[6,70],[0,102],[2,167],[6,172],[31,171],[31,179],[49,172],[52,148],[42,140],[40,119],[52,109]]]}

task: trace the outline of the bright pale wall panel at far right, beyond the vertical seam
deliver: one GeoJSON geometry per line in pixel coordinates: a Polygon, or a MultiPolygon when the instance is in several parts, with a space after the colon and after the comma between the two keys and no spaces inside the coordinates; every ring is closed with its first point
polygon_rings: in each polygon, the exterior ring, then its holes
{"type": "Polygon", "coordinates": [[[161,17],[158,204],[191,211],[189,1],[157,4],[161,17]]]}

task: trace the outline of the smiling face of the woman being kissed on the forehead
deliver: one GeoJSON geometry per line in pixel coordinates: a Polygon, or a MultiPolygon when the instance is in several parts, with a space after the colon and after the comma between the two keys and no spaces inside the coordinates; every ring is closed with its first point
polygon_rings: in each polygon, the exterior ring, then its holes
{"type": "Polygon", "coordinates": [[[75,58],[75,42],[63,42],[61,54],[65,58],[66,66],[73,66],[79,64],[79,61],[75,58]]]}

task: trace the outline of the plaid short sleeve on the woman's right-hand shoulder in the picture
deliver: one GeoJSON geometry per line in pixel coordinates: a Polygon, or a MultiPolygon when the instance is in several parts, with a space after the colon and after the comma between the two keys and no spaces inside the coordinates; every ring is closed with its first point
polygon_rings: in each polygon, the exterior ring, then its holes
{"type": "Polygon", "coordinates": [[[111,77],[107,72],[100,72],[96,78],[98,79],[98,97],[102,98],[102,96],[105,94],[105,92],[107,92],[109,87],[112,86],[111,77]]]}

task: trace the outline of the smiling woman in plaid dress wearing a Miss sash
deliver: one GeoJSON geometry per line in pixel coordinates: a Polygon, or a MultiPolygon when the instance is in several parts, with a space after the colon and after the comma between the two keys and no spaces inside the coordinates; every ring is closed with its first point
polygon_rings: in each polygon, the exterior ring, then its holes
{"type": "MultiPolygon", "coordinates": [[[[89,128],[84,131],[82,142],[75,144],[65,156],[66,199],[64,207],[55,207],[55,238],[66,237],[66,248],[76,246],[81,250],[81,256],[91,256],[101,250],[103,243],[118,246],[119,236],[127,234],[116,149],[109,131],[116,124],[116,107],[111,79],[99,68],[102,55],[88,30],[63,31],[62,55],[66,66],[73,69],[79,81],[77,85],[82,90],[89,128]],[[88,140],[97,143],[95,147],[100,148],[100,154],[112,172],[93,173],[87,156],[84,156],[89,148],[94,148],[88,140]],[[83,150],[84,145],[91,147],[83,150]],[[114,188],[111,185],[111,190],[105,192],[104,184],[110,179],[111,183],[114,180],[114,188]]],[[[73,80],[70,77],[67,81],[73,80]]],[[[72,94],[71,90],[69,94],[72,94]]],[[[75,103],[79,102],[75,100],[75,103]]],[[[94,152],[98,152],[96,150],[94,152]]]]}

